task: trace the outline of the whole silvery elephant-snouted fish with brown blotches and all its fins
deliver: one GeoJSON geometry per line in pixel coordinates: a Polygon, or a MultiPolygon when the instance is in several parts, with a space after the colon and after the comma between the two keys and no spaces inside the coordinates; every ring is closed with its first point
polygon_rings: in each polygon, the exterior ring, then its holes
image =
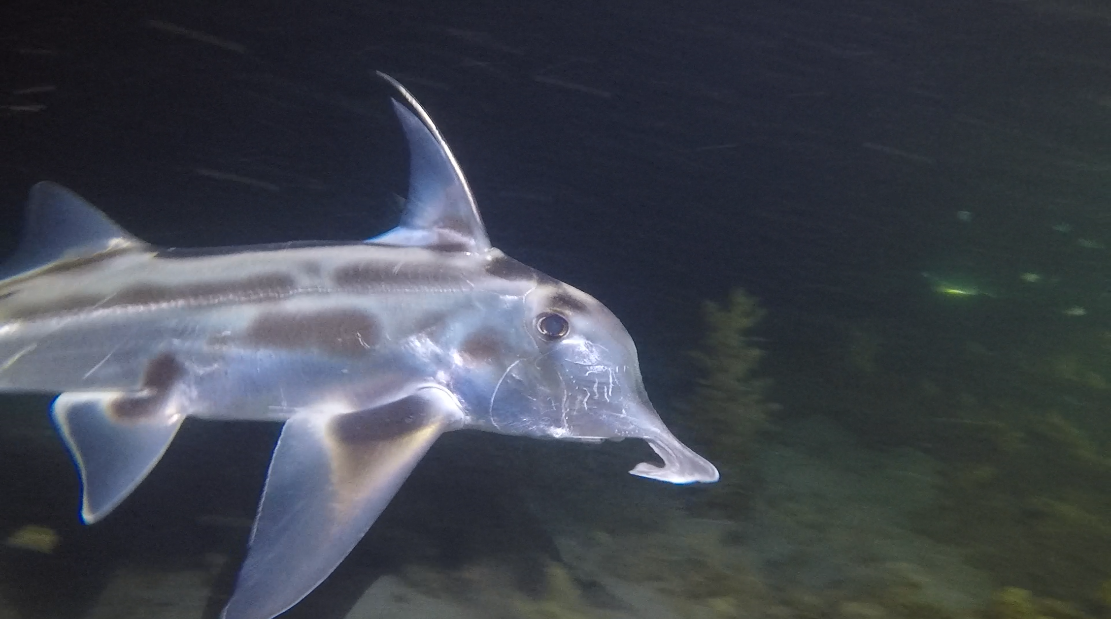
{"type": "Polygon", "coordinates": [[[428,114],[393,80],[411,151],[401,224],[354,243],[164,250],[76,194],[31,191],[0,272],[0,390],[61,393],[81,516],[104,517],[188,416],[282,420],[227,619],[319,585],[443,432],[643,438],[631,473],[718,471],[649,403],[601,303],[490,246],[428,114]]]}

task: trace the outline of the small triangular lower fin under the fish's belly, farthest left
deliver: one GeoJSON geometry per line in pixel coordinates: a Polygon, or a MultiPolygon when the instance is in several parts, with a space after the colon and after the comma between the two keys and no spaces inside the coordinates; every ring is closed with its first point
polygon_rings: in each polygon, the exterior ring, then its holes
{"type": "Polygon", "coordinates": [[[108,515],[147,477],[182,416],[158,394],[83,392],[58,396],[51,414],[81,474],[81,518],[108,515]]]}

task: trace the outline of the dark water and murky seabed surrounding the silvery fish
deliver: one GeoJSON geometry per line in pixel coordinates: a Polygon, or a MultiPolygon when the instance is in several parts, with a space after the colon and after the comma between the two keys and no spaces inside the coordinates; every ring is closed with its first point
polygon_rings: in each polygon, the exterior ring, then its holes
{"type": "MultiPolygon", "coordinates": [[[[159,246],[379,234],[389,73],[721,471],[449,433],[282,617],[1111,615],[1104,3],[14,0],[0,59],[3,255],[43,180],[159,246]]],[[[187,420],[86,526],[50,402],[0,397],[0,619],[219,617],[280,426],[187,420]]]]}

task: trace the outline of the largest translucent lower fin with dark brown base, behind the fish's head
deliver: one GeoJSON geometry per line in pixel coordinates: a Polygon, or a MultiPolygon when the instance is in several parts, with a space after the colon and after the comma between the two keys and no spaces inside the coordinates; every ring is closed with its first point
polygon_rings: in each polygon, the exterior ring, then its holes
{"type": "Polygon", "coordinates": [[[223,619],[270,619],[307,596],[461,415],[449,394],[424,388],[368,410],[286,422],[223,619]]]}

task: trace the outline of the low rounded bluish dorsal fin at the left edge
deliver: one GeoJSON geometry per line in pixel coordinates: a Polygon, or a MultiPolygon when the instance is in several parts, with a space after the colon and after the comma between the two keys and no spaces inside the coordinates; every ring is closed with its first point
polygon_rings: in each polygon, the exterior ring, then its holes
{"type": "Polygon", "coordinates": [[[27,203],[23,239],[0,265],[0,280],[56,262],[143,245],[80,195],[59,184],[37,183],[27,203]]]}

